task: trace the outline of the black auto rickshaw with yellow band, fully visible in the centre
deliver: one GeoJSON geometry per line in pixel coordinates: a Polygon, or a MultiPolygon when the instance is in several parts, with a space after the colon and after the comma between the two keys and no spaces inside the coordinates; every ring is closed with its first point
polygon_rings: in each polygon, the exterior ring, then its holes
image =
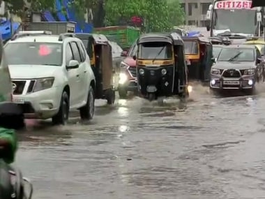
{"type": "Polygon", "coordinates": [[[137,84],[140,96],[153,101],[158,97],[188,97],[187,66],[181,36],[145,34],[137,40],[137,84]]]}

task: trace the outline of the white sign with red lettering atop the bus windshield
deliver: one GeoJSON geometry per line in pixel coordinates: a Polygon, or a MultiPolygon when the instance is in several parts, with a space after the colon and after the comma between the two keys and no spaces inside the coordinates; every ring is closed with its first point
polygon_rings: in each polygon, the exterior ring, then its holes
{"type": "Polygon", "coordinates": [[[236,10],[236,9],[251,9],[252,1],[216,1],[214,9],[226,9],[226,10],[236,10]]]}

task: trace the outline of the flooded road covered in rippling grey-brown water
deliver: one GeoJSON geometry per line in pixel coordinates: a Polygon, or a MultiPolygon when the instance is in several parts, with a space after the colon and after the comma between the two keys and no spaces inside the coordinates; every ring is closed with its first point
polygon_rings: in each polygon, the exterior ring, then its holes
{"type": "Polygon", "coordinates": [[[265,197],[265,94],[202,89],[187,104],[97,103],[89,124],[44,123],[21,135],[16,163],[33,198],[265,197]]]}

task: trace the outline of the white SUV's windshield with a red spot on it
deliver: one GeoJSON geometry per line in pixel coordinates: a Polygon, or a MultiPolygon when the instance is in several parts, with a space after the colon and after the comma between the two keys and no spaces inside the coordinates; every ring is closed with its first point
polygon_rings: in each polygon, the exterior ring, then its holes
{"type": "Polygon", "coordinates": [[[8,65],[61,66],[60,43],[8,43],[5,46],[8,65]]]}

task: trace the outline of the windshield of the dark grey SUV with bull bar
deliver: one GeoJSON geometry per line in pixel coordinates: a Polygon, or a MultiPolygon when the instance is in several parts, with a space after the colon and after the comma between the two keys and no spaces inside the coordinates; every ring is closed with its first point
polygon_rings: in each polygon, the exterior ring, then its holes
{"type": "Polygon", "coordinates": [[[218,61],[255,61],[255,53],[251,48],[223,48],[218,61]]]}

